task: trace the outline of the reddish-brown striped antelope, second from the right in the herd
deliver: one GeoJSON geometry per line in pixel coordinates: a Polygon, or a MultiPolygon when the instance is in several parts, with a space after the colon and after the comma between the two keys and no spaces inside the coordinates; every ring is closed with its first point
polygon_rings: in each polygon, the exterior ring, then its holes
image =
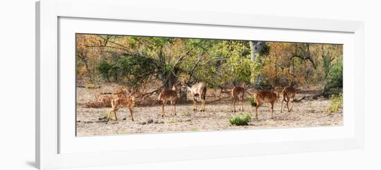
{"type": "Polygon", "coordinates": [[[274,88],[274,91],[256,91],[254,93],[254,99],[256,102],[256,119],[258,119],[258,108],[264,103],[271,104],[271,116],[273,117],[274,113],[274,103],[278,101],[279,93],[278,87],[274,88]]]}

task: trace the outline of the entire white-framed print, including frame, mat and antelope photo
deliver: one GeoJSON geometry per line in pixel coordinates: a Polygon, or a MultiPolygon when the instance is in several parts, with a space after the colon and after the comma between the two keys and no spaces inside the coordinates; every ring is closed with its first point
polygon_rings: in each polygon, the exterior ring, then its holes
{"type": "Polygon", "coordinates": [[[363,147],[360,21],[36,7],[40,169],[363,147]]]}

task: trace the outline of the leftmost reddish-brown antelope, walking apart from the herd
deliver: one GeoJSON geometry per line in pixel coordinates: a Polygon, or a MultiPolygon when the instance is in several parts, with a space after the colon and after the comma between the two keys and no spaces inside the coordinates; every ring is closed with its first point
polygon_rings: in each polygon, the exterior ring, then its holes
{"type": "Polygon", "coordinates": [[[117,91],[114,93],[114,95],[117,96],[116,99],[111,101],[112,109],[109,111],[109,114],[107,115],[107,122],[109,122],[109,117],[112,112],[114,112],[115,120],[118,120],[118,117],[116,116],[116,111],[121,109],[123,106],[128,108],[131,114],[131,120],[134,121],[134,115],[132,113],[132,107],[135,104],[135,97],[134,96],[127,96],[125,91],[117,91]]]}

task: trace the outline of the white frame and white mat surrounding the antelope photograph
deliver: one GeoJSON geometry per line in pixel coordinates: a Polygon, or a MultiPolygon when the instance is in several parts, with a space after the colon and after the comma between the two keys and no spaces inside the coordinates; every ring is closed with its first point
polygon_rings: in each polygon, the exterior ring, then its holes
{"type": "MultiPolygon", "coordinates": [[[[39,169],[364,147],[362,22],[148,9],[143,6],[125,10],[127,7],[127,1],[37,1],[36,164],[39,169]],[[103,22],[114,27],[105,28],[101,26],[103,22]],[[130,24],[131,29],[123,29],[123,24],[130,24]],[[146,24],[151,30],[134,30],[139,24],[146,24]],[[173,30],[165,31],[166,28],[173,30]],[[258,37],[256,40],[344,44],[344,126],[76,138],[74,115],[60,114],[64,111],[62,108],[67,108],[63,107],[66,106],[64,101],[72,99],[71,93],[62,93],[65,87],[69,89],[71,86],[64,78],[70,79],[70,75],[65,75],[67,70],[63,70],[70,67],[62,65],[68,63],[70,66],[70,59],[62,60],[59,56],[71,55],[70,49],[74,45],[65,34],[123,35],[132,31],[139,35],[225,39],[254,34],[258,37]],[[228,31],[231,33],[226,34],[228,31]],[[109,143],[113,147],[96,147],[109,143]]],[[[69,112],[70,109],[64,111],[69,112]]]]}

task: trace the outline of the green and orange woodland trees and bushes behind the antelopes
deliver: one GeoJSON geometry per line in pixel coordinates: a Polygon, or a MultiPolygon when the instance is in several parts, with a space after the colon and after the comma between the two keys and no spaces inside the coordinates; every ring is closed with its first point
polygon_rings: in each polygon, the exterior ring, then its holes
{"type": "Polygon", "coordinates": [[[317,95],[327,95],[342,87],[342,59],[338,44],[76,35],[78,86],[116,83],[151,94],[179,82],[206,82],[222,90],[244,83],[319,86],[317,95]]]}

